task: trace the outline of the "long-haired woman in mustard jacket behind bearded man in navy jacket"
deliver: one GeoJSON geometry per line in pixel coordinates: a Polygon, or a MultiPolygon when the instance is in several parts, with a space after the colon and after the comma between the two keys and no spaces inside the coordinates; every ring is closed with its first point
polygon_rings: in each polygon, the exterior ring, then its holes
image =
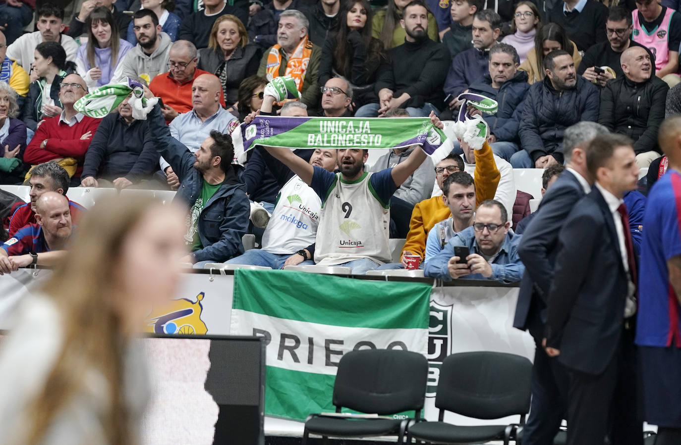
{"type": "Polygon", "coordinates": [[[527,53],[527,59],[520,64],[518,69],[527,72],[528,84],[539,82],[544,78],[543,63],[544,57],[553,50],[564,50],[572,54],[575,69],[580,67],[582,56],[577,51],[575,42],[567,38],[567,33],[560,27],[560,24],[548,23],[541,27],[535,35],[535,48],[527,53]]]}

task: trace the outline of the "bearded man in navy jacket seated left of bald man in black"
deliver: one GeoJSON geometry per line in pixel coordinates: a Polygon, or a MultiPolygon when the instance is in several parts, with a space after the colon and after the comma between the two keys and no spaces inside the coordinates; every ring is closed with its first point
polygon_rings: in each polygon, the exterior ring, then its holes
{"type": "Polygon", "coordinates": [[[598,120],[598,88],[577,76],[572,56],[555,50],[543,65],[544,80],[530,86],[525,99],[518,130],[523,150],[511,156],[513,168],[562,164],[565,129],[582,120],[598,120]]]}

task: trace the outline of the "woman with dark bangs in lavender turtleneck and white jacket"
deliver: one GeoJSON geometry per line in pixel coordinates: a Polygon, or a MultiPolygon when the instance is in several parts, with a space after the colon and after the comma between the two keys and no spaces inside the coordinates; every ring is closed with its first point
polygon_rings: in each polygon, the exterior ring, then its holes
{"type": "Polygon", "coordinates": [[[132,45],[121,39],[118,24],[108,8],[95,7],[85,27],[87,43],[76,52],[76,71],[88,88],[106,85],[132,45]]]}

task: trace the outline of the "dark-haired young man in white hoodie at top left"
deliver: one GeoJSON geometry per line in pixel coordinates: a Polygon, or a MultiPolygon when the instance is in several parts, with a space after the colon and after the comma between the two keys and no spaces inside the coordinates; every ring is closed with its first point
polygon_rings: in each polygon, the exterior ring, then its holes
{"type": "MultiPolygon", "coordinates": [[[[66,52],[67,61],[76,61],[78,44],[68,35],[62,34],[65,24],[64,10],[52,3],[44,3],[37,10],[38,31],[21,35],[13,44],[7,46],[7,57],[21,65],[27,73],[31,73],[35,47],[42,42],[57,42],[66,52]]],[[[31,80],[35,80],[31,78],[31,80]]]]}

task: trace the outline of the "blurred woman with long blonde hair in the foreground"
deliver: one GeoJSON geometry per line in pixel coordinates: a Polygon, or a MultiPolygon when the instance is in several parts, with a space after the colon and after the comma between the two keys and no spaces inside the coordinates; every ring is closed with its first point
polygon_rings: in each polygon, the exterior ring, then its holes
{"type": "Polygon", "coordinates": [[[0,353],[3,444],[138,444],[150,388],[132,340],[176,293],[185,212],[127,196],[89,210],[0,353]]]}

